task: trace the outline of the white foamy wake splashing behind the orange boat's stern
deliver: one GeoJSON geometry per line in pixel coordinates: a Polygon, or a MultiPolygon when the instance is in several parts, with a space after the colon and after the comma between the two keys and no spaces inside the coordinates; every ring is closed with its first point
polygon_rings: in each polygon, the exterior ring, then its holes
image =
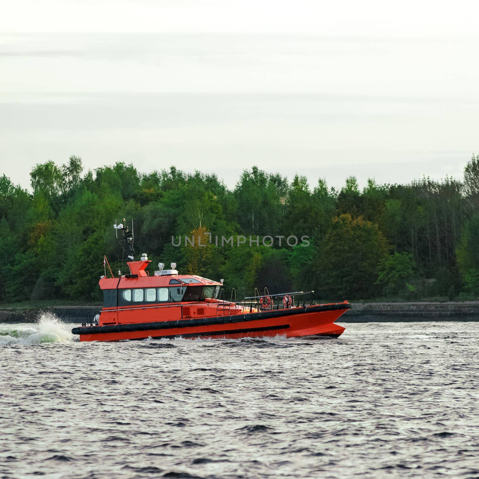
{"type": "Polygon", "coordinates": [[[55,314],[42,312],[36,323],[0,324],[0,345],[72,342],[69,326],[55,314]]]}

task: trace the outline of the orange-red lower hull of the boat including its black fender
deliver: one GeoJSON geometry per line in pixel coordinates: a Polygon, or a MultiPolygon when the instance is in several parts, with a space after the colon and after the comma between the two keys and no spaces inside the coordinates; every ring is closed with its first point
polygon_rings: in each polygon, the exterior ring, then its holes
{"type": "Polygon", "coordinates": [[[349,303],[314,305],[304,308],[270,310],[216,318],[86,326],[74,328],[72,332],[80,335],[80,341],[122,341],[178,337],[189,339],[239,339],[276,335],[286,337],[338,337],[342,334],[344,328],[334,324],[334,321],[350,308],[349,303]]]}

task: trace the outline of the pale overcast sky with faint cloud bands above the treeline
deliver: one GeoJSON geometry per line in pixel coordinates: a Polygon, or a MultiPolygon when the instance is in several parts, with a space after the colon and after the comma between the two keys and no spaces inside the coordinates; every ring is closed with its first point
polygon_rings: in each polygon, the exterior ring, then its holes
{"type": "Polygon", "coordinates": [[[31,0],[0,16],[1,172],[72,154],[234,186],[462,178],[479,152],[473,1],[31,0]]]}

